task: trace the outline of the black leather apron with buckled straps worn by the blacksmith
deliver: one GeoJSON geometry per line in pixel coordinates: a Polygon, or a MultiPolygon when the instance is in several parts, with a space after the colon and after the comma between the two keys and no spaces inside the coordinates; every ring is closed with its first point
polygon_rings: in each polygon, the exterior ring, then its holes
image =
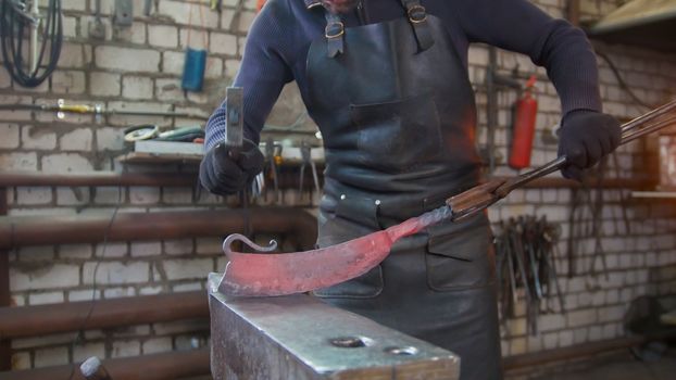
{"type": "MultiPolygon", "coordinates": [[[[345,28],[326,14],[306,74],[324,136],[317,244],[327,246],[438,207],[474,186],[474,92],[439,18],[417,0],[402,17],[345,28]]],[[[491,235],[485,215],[397,242],[381,265],[316,291],[338,307],[452,350],[462,379],[499,379],[491,235]]]]}

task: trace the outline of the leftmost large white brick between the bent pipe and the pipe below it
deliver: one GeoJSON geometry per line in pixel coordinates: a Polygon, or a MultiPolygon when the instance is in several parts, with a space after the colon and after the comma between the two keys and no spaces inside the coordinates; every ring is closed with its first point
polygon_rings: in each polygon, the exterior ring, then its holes
{"type": "Polygon", "coordinates": [[[32,270],[10,268],[12,291],[51,288],[70,288],[79,284],[79,266],[68,264],[46,264],[32,266],[32,270]]]}

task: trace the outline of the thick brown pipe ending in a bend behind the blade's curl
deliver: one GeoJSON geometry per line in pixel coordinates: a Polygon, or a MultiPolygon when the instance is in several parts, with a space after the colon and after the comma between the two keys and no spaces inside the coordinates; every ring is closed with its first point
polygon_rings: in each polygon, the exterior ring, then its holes
{"type": "Polygon", "coordinates": [[[295,207],[196,210],[111,215],[20,216],[0,218],[0,250],[27,245],[187,239],[255,231],[285,233],[301,249],[314,248],[316,219],[295,207]],[[110,225],[110,226],[109,226],[110,225]]]}

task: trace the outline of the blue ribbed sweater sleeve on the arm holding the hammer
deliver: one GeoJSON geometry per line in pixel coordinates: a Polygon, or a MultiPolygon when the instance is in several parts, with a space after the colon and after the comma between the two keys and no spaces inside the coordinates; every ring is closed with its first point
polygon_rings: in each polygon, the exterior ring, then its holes
{"type": "MultiPolygon", "coordinates": [[[[283,28],[284,0],[267,1],[247,35],[245,53],[233,86],[243,88],[245,137],[258,143],[265,119],[285,84],[293,79],[285,54],[288,26],[283,28]],[[285,35],[286,34],[286,35],[285,35]]],[[[225,138],[226,101],[206,122],[205,148],[225,138]]]]}

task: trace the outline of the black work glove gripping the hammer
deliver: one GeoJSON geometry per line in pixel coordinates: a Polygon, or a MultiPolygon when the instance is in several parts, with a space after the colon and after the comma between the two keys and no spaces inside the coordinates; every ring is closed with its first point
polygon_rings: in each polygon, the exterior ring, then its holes
{"type": "Polygon", "coordinates": [[[263,169],[264,161],[263,153],[250,140],[243,140],[241,151],[235,156],[220,143],[202,159],[200,182],[214,194],[235,194],[263,169]]]}

